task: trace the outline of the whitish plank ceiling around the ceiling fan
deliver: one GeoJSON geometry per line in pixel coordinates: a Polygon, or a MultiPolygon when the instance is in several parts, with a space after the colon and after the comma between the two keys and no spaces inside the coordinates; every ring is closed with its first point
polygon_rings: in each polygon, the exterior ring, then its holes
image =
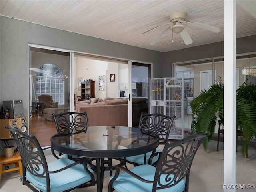
{"type": "MultiPolygon", "coordinates": [[[[224,0],[1,0],[0,15],[160,52],[224,40],[224,0]],[[176,11],[220,32],[186,26],[192,44],[182,44],[180,34],[168,30],[150,45],[166,26],[142,33],[169,23],[176,11]]],[[[237,38],[256,34],[256,18],[238,4],[236,26],[237,38]]]]}

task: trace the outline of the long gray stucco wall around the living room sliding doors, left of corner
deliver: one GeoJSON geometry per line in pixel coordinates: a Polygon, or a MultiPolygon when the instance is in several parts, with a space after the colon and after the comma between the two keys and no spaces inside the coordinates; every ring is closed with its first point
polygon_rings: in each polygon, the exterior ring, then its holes
{"type": "Polygon", "coordinates": [[[23,100],[28,116],[28,43],[114,58],[153,63],[153,77],[161,77],[162,52],[0,16],[0,104],[23,100]]]}

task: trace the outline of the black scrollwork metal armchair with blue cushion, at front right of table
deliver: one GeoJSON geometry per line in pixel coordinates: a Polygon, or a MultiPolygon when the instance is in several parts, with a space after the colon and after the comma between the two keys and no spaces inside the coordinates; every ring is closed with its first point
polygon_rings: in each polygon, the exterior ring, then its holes
{"type": "Polygon", "coordinates": [[[108,192],[114,189],[118,192],[188,192],[191,164],[206,135],[210,132],[174,143],[167,141],[156,167],[144,164],[128,170],[120,165],[113,166],[116,172],[110,177],[108,192]]]}

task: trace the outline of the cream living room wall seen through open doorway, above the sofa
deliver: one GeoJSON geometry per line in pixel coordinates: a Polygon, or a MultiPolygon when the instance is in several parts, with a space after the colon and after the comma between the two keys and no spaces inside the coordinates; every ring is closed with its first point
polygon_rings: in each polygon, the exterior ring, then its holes
{"type": "Polygon", "coordinates": [[[127,61],[75,54],[74,65],[76,96],[81,96],[81,82],[90,79],[95,82],[95,97],[128,98],[127,61]]]}

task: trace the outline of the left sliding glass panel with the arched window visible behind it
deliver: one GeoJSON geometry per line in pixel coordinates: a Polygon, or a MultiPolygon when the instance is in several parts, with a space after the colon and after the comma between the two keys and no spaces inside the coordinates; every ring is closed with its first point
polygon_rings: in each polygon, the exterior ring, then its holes
{"type": "Polygon", "coordinates": [[[41,146],[56,133],[52,114],[70,111],[70,53],[29,48],[29,133],[41,146]]]}

